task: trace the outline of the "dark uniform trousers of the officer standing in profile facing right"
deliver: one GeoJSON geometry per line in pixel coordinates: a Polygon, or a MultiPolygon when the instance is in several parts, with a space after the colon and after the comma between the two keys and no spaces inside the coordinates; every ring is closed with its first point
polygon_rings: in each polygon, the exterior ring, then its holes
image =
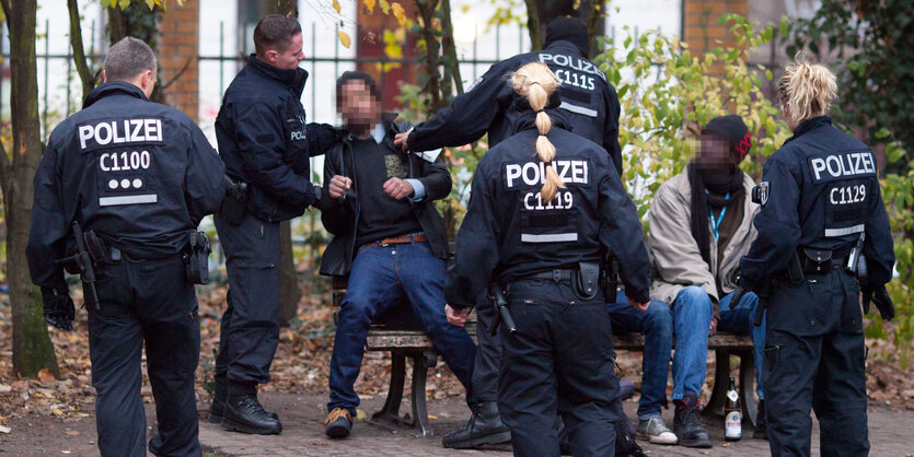
{"type": "Polygon", "coordinates": [[[238,225],[213,219],[229,272],[216,377],[228,380],[230,396],[256,395],[279,343],[279,223],[250,213],[238,225]]]}

